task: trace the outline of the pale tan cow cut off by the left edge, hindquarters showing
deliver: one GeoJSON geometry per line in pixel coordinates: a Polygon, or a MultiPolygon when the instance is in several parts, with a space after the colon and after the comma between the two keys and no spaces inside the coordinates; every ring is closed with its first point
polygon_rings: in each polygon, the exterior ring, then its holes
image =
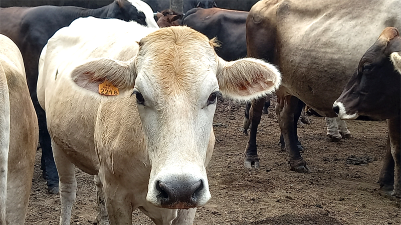
{"type": "Polygon", "coordinates": [[[24,224],[38,120],[17,45],[0,34],[0,224],[24,224]]]}

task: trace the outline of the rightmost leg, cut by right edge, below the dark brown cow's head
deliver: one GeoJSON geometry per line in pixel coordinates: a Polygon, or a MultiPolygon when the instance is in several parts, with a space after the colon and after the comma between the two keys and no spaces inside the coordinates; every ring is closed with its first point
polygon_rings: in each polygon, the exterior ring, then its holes
{"type": "Polygon", "coordinates": [[[401,117],[387,119],[391,154],[394,159],[394,189],[391,195],[401,198],[401,117]]]}

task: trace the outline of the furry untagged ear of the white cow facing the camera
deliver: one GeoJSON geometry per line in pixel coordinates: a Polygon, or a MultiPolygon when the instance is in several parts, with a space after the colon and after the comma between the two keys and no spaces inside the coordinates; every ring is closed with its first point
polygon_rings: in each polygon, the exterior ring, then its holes
{"type": "Polygon", "coordinates": [[[256,58],[228,62],[216,57],[220,91],[231,98],[256,99],[274,92],[281,84],[279,70],[268,62],[256,58]]]}

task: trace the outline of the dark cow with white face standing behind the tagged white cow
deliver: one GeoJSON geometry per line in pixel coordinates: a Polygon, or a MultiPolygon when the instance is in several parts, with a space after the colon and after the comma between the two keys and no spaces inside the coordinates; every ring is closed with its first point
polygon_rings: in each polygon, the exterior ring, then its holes
{"type": "Polygon", "coordinates": [[[48,39],[58,29],[68,26],[79,17],[118,18],[125,21],[134,20],[142,25],[157,26],[150,7],[148,5],[143,8],[139,7],[143,4],[145,3],[139,0],[115,0],[98,9],[51,5],[0,8],[0,33],[10,37],[21,49],[24,57],[28,87],[38,114],[43,176],[47,180],[50,192],[58,192],[59,177],[53,159],[45,111],[39,105],[36,94],[38,62],[41,51],[48,39]],[[146,16],[149,14],[148,12],[152,15],[150,19],[146,16]],[[154,24],[147,24],[150,23],[149,21],[154,24]]]}

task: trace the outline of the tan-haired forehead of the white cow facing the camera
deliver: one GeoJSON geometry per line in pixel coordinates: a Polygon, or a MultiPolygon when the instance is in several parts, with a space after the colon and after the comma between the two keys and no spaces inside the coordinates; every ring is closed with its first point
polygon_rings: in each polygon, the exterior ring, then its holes
{"type": "Polygon", "coordinates": [[[195,94],[205,79],[217,82],[213,44],[186,26],[161,28],[139,43],[136,69],[143,76],[140,80],[146,80],[161,95],[195,94]]]}

